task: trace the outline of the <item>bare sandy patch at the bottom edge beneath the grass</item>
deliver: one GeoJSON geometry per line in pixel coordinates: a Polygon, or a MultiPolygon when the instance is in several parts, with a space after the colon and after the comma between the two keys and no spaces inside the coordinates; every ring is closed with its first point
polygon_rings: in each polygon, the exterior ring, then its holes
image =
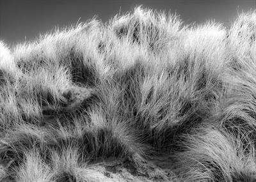
{"type": "Polygon", "coordinates": [[[95,181],[178,181],[171,171],[171,161],[168,155],[150,156],[140,169],[122,159],[109,158],[95,162],[88,168],[97,171],[92,176],[95,181]]]}

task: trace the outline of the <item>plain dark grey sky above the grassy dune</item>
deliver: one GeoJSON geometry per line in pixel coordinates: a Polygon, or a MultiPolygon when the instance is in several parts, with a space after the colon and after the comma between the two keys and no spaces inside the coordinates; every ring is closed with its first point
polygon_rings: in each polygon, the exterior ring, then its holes
{"type": "Polygon", "coordinates": [[[215,19],[229,27],[238,11],[256,9],[256,0],[0,0],[0,40],[13,45],[33,40],[40,33],[55,26],[68,26],[97,15],[106,22],[110,17],[133,10],[136,5],[145,8],[175,11],[186,23],[202,23],[215,19]]]}

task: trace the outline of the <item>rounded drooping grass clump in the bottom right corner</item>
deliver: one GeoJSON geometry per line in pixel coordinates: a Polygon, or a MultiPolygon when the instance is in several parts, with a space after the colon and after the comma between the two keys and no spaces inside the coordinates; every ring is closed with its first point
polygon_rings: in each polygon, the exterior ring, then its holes
{"type": "Polygon", "coordinates": [[[204,126],[180,140],[183,151],[173,154],[173,170],[184,181],[251,181],[255,178],[255,146],[246,133],[234,136],[225,130],[204,126]]]}

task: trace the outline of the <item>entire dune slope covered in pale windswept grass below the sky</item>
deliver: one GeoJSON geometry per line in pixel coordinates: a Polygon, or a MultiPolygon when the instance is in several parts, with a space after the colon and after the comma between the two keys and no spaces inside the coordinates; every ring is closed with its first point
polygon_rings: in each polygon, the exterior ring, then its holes
{"type": "Polygon", "coordinates": [[[225,29],[139,7],[0,42],[1,179],[256,179],[255,34],[255,11],[225,29]]]}

